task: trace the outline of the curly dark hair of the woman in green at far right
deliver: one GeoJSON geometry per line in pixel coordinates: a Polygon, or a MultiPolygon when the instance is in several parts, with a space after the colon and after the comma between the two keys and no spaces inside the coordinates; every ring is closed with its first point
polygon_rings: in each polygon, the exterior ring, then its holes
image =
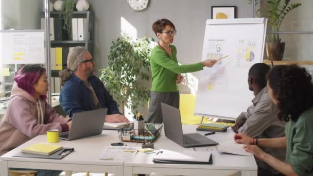
{"type": "Polygon", "coordinates": [[[297,121],[299,116],[313,107],[312,77],[297,65],[277,65],[267,76],[273,96],[279,101],[278,117],[297,121]]]}

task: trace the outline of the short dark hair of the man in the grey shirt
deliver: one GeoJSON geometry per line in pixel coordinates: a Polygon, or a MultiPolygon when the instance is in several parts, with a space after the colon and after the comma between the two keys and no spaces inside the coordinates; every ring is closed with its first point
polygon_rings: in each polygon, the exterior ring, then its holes
{"type": "Polygon", "coordinates": [[[256,63],[249,69],[249,75],[254,77],[254,82],[264,88],[266,86],[266,75],[270,71],[270,66],[265,63],[256,63]]]}

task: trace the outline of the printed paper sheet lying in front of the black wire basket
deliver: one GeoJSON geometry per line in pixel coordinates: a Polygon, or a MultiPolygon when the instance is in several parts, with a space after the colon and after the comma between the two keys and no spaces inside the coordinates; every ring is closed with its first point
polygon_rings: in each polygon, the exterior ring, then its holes
{"type": "Polygon", "coordinates": [[[131,146],[108,146],[100,154],[100,160],[131,161],[137,148],[131,146]]]}

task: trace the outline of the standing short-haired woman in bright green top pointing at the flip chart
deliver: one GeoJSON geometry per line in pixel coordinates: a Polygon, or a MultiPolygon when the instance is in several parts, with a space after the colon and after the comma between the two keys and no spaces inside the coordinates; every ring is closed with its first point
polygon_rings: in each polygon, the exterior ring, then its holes
{"type": "Polygon", "coordinates": [[[179,108],[179,92],[177,83],[183,80],[181,73],[197,72],[204,66],[212,67],[216,60],[205,60],[189,65],[179,65],[177,49],[173,43],[176,34],[175,26],[167,19],[157,20],[152,29],[159,38],[150,56],[152,87],[149,101],[148,122],[162,124],[161,102],[179,108]]]}

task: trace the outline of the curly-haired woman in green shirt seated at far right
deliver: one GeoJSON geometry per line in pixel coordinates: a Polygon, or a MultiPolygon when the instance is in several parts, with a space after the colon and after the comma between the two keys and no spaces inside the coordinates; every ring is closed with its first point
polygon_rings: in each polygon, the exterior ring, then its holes
{"type": "Polygon", "coordinates": [[[305,68],[297,65],[275,66],[268,73],[268,92],[287,122],[286,137],[254,139],[236,134],[245,150],[285,175],[313,175],[313,84],[305,68]],[[286,148],[285,162],[265,153],[258,146],[286,148]]]}

